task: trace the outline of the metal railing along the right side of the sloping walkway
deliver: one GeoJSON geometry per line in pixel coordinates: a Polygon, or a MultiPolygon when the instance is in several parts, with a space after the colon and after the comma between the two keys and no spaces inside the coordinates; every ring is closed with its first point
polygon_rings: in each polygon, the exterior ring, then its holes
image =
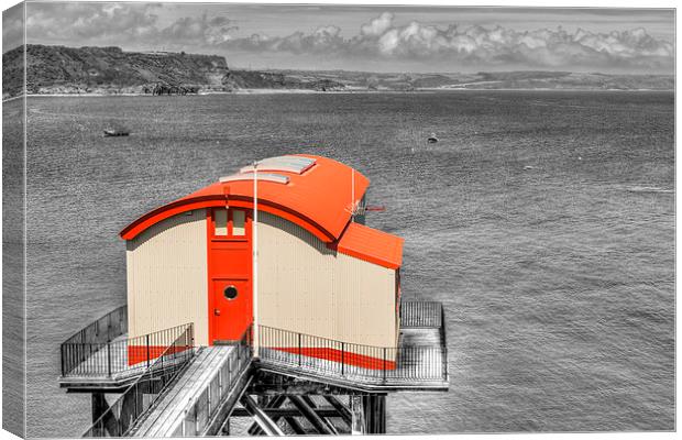
{"type": "Polygon", "coordinates": [[[173,437],[198,437],[208,428],[209,421],[216,416],[242,372],[251,363],[251,338],[252,327],[250,326],[235,343],[235,350],[211,377],[209,386],[187,408],[185,418],[173,437]]]}

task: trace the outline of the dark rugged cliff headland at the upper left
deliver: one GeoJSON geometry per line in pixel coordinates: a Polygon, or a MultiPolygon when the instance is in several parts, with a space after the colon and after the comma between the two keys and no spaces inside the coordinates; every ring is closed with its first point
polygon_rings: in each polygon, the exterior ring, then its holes
{"type": "MultiPolygon", "coordinates": [[[[22,50],[2,55],[3,98],[21,94],[22,50]]],[[[231,72],[224,57],[119,47],[26,46],[29,94],[196,94],[241,88],[333,89],[331,80],[277,73],[231,72]]]]}

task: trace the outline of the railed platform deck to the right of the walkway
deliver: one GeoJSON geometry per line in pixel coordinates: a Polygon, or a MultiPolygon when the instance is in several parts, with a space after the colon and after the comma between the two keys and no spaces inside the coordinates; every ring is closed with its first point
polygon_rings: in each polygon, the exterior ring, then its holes
{"type": "Polygon", "coordinates": [[[397,349],[348,344],[262,328],[258,367],[369,392],[447,391],[448,350],[442,306],[416,301],[406,305],[397,349]],[[277,348],[282,341],[301,341],[302,346],[285,351],[277,348]],[[319,356],[306,355],[306,345],[316,346],[319,356]]]}

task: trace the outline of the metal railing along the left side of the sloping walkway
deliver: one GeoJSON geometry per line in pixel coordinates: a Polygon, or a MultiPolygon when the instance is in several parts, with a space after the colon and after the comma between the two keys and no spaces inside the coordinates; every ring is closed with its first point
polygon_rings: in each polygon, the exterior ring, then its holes
{"type": "Polygon", "coordinates": [[[123,437],[130,431],[194,358],[194,326],[184,328],[82,437],[123,437]]]}

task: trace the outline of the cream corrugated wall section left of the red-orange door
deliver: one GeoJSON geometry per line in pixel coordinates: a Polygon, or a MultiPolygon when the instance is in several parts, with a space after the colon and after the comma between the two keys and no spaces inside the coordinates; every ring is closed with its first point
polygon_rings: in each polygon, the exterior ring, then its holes
{"type": "Polygon", "coordinates": [[[208,344],[206,210],[170,217],[127,242],[130,337],[195,322],[208,344]]]}

